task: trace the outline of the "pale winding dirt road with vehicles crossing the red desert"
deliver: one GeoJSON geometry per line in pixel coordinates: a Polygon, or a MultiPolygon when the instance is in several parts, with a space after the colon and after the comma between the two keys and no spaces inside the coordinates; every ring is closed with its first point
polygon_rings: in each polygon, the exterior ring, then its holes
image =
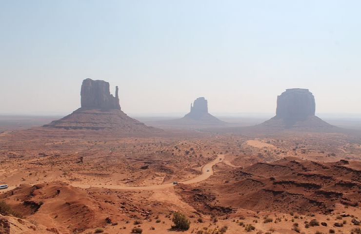
{"type": "MultiPolygon", "coordinates": [[[[212,176],[214,173],[212,167],[214,165],[216,165],[217,163],[223,161],[223,159],[224,159],[224,155],[218,155],[216,159],[205,164],[202,167],[201,175],[199,175],[193,179],[179,181],[179,183],[193,184],[193,183],[198,183],[198,182],[201,182],[201,181],[207,179],[209,176],[212,176]],[[209,172],[207,172],[207,169],[209,169],[209,172]]],[[[175,184],[173,184],[173,183],[157,184],[157,185],[150,185],[150,186],[140,186],[140,187],[123,186],[123,185],[91,185],[91,184],[80,184],[80,183],[72,183],[70,185],[74,186],[74,187],[79,187],[79,188],[107,188],[107,189],[123,189],[123,190],[158,190],[158,189],[171,188],[171,187],[175,186],[175,184]]]]}

